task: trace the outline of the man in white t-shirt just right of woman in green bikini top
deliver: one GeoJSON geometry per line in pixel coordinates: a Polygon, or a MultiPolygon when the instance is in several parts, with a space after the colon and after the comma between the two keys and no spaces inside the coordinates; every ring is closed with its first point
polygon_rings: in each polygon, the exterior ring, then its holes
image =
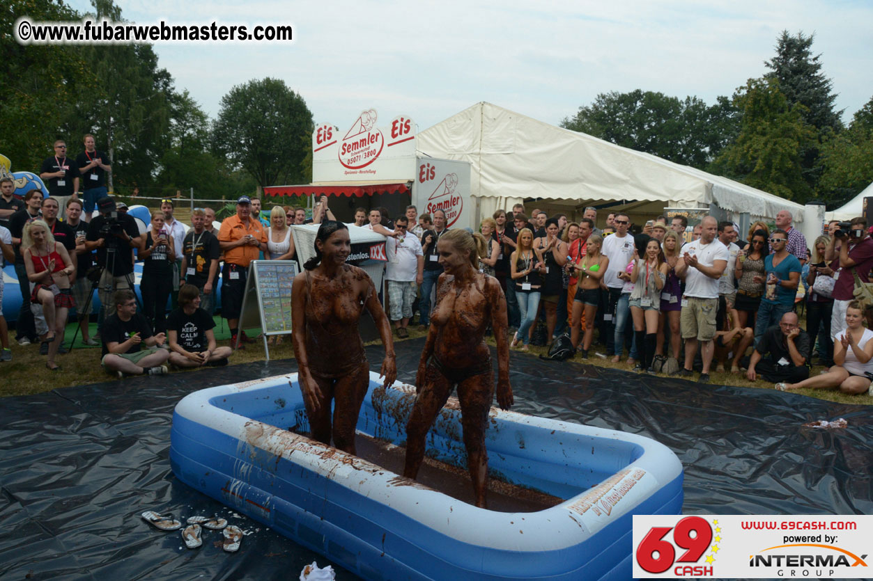
{"type": "Polygon", "coordinates": [[[630,218],[627,214],[616,214],[613,223],[615,224],[615,234],[603,239],[603,248],[601,249],[601,253],[609,257],[609,267],[601,280],[601,288],[605,284],[609,291],[609,304],[607,311],[603,313],[604,321],[609,321],[606,354],[607,356],[613,355],[613,361],[617,362],[621,359],[624,351],[624,345],[622,345],[624,325],[627,324],[630,312],[629,306],[623,304],[619,306],[624,281],[618,275],[620,272],[624,272],[630,261],[634,259],[634,236],[628,233],[630,218]]]}

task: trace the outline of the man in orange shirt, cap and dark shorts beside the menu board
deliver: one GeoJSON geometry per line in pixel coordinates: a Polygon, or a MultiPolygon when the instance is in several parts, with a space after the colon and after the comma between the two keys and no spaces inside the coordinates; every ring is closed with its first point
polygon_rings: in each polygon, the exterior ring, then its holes
{"type": "MultiPolygon", "coordinates": [[[[249,263],[257,260],[267,249],[267,236],[264,227],[257,219],[251,218],[251,198],[239,196],[237,215],[225,218],[218,232],[218,244],[224,253],[224,266],[221,270],[221,311],[230,327],[230,345],[237,345],[237,325],[239,313],[243,309],[245,279],[249,273],[249,263]]],[[[253,339],[241,338],[246,343],[253,339]]]]}

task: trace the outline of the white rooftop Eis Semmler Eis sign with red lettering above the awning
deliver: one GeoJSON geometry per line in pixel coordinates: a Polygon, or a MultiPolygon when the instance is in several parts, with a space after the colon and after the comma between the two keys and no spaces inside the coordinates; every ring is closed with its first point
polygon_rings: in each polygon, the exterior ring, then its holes
{"type": "Polygon", "coordinates": [[[345,130],[322,124],[313,131],[313,181],[409,181],[416,172],[416,125],[398,115],[378,126],[375,109],[362,111],[345,130]]]}

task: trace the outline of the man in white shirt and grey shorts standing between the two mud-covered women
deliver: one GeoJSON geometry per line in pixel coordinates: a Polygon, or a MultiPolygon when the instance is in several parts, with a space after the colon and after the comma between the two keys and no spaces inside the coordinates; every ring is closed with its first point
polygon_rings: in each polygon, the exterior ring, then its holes
{"type": "Polygon", "coordinates": [[[409,218],[395,220],[396,238],[385,240],[385,280],[388,281],[388,316],[394,322],[399,338],[409,337],[406,327],[412,318],[412,303],[416,300],[418,285],[424,280],[424,253],[418,238],[407,232],[409,218]]]}

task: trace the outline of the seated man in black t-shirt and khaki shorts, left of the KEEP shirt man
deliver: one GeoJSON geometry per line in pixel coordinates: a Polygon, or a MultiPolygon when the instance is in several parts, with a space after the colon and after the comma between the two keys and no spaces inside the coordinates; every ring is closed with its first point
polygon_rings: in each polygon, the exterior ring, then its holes
{"type": "Polygon", "coordinates": [[[113,293],[115,314],[100,325],[103,340],[103,360],[107,371],[118,373],[119,379],[127,375],[163,375],[163,365],[169,352],[162,349],[164,334],[155,335],[151,325],[141,313],[136,312],[134,291],[121,289],[113,293]],[[143,347],[145,344],[145,347],[143,347]]]}

